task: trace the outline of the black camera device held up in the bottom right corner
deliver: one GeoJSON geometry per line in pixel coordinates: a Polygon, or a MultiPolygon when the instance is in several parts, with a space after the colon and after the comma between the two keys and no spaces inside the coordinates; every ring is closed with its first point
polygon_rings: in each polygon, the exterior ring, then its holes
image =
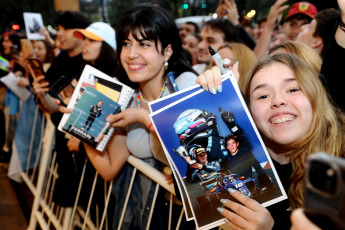
{"type": "Polygon", "coordinates": [[[345,159],[318,152],[306,160],[304,212],[322,229],[345,229],[345,159]]]}

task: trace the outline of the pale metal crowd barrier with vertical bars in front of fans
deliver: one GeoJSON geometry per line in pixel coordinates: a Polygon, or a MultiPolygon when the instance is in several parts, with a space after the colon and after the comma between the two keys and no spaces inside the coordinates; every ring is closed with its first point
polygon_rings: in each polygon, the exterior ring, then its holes
{"type": "MultiPolygon", "coordinates": [[[[82,176],[79,183],[79,189],[77,192],[75,204],[73,207],[60,207],[59,205],[55,204],[52,200],[53,191],[56,179],[58,178],[58,164],[56,162],[56,152],[53,151],[54,140],[55,140],[55,126],[50,120],[49,114],[44,114],[44,130],[43,130],[43,138],[42,138],[42,146],[39,148],[41,153],[37,153],[36,156],[39,159],[36,159],[35,162],[39,165],[35,165],[36,167],[33,170],[26,169],[21,173],[21,177],[23,181],[27,184],[30,188],[32,194],[34,195],[34,201],[31,210],[31,217],[30,223],[28,226],[29,230],[35,230],[39,226],[41,229],[62,229],[62,230],[69,230],[74,229],[76,227],[81,229],[109,229],[111,227],[108,226],[107,221],[107,208],[109,204],[109,200],[111,197],[111,189],[113,186],[113,182],[105,182],[105,189],[104,189],[104,208],[101,212],[102,215],[100,217],[99,211],[96,212],[96,223],[94,223],[90,218],[90,209],[91,203],[93,200],[94,189],[98,178],[98,173],[95,174],[93,186],[91,189],[90,199],[88,201],[86,210],[82,207],[78,206],[79,195],[81,194],[82,190],[82,183],[85,175],[86,169],[86,161],[84,164],[84,168],[82,171],[82,176]],[[36,168],[38,169],[36,171],[36,168]]],[[[30,158],[30,157],[29,157],[30,158]]],[[[30,160],[30,159],[29,159],[30,160]]],[[[152,166],[148,165],[147,163],[143,162],[142,160],[130,156],[128,158],[128,163],[134,166],[134,172],[132,178],[134,179],[135,174],[138,173],[138,170],[149,177],[151,180],[157,183],[156,191],[155,191],[155,198],[157,198],[158,189],[159,187],[163,187],[170,193],[170,212],[169,212],[169,226],[167,229],[171,229],[171,216],[172,216],[172,203],[173,203],[173,196],[175,195],[173,185],[168,185],[167,181],[165,180],[165,175],[158,171],[157,169],[153,168],[152,166]]],[[[132,183],[134,180],[132,180],[132,183]]],[[[131,185],[130,185],[131,187],[131,185]]],[[[68,188],[66,188],[68,189],[68,188]]],[[[127,201],[130,195],[131,189],[128,190],[127,199],[125,202],[125,206],[122,211],[122,218],[125,214],[127,201]]],[[[154,200],[155,202],[155,200],[154,200]]],[[[154,206],[154,205],[153,205],[154,206]]],[[[182,209],[183,212],[183,209],[182,209]]],[[[151,209],[150,219],[151,221],[153,213],[153,208],[151,209]]],[[[180,219],[178,220],[176,229],[179,229],[179,224],[181,223],[181,219],[183,217],[183,213],[180,215],[180,219]]],[[[112,218],[112,217],[110,217],[112,218]]],[[[122,219],[120,220],[120,224],[118,229],[120,229],[122,224],[122,219]]],[[[149,229],[150,224],[148,224],[147,229],[149,229]]]]}

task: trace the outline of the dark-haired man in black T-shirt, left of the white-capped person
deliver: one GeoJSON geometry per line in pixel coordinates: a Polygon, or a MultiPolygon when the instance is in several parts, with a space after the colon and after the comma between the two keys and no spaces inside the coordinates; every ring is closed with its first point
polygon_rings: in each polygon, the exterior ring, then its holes
{"type": "Polygon", "coordinates": [[[56,40],[60,44],[61,52],[53,59],[47,72],[36,76],[33,81],[37,100],[43,109],[51,114],[58,113],[59,106],[55,104],[55,98],[48,93],[49,87],[61,76],[65,76],[70,81],[79,78],[84,67],[81,55],[82,40],[75,38],[73,32],[74,29],[86,28],[90,21],[80,12],[59,11],[54,17],[54,23],[57,26],[56,40]]]}

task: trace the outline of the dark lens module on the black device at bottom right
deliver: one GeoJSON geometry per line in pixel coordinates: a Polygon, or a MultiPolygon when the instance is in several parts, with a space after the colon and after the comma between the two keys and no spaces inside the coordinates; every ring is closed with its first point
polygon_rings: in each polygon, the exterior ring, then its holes
{"type": "Polygon", "coordinates": [[[313,161],[310,164],[309,181],[316,189],[334,194],[337,186],[337,174],[329,165],[313,161]]]}

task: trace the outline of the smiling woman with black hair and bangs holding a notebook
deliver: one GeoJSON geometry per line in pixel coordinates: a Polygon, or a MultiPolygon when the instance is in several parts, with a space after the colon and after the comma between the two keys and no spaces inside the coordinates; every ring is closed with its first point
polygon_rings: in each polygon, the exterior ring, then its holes
{"type": "MultiPolygon", "coordinates": [[[[148,102],[173,93],[166,87],[168,72],[173,72],[179,89],[194,85],[197,77],[184,57],[175,21],[164,9],[146,4],[135,6],[122,15],[116,33],[118,79],[136,92],[127,109],[107,117],[117,128],[108,148],[100,153],[85,146],[100,175],[106,180],[116,179],[113,194],[118,208],[115,208],[114,226],[119,223],[124,191],[127,191],[125,185],[132,175],[133,168],[126,164],[128,156],[141,158],[158,170],[168,165],[157,136],[151,135],[154,129],[151,128],[148,102]]],[[[134,187],[136,192],[130,198],[123,226],[143,229],[153,208],[155,184],[137,175],[134,187]]],[[[165,229],[160,221],[153,221],[151,226],[165,229]]]]}

